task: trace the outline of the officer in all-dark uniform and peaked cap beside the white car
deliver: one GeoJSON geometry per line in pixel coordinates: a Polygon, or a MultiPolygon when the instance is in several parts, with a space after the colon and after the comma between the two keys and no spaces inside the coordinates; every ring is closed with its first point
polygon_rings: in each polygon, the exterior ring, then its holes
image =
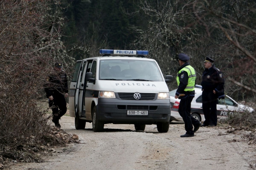
{"type": "Polygon", "coordinates": [[[214,60],[206,57],[202,76],[202,100],[205,121],[202,126],[217,125],[217,102],[224,99],[224,78],[221,71],[215,68],[214,60]]]}

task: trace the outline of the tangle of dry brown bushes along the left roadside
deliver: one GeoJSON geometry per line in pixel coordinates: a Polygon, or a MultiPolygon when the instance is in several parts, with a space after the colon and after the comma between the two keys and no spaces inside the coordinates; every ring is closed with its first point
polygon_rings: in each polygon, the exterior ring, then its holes
{"type": "MultiPolygon", "coordinates": [[[[18,148],[53,142],[49,114],[38,105],[45,99],[43,84],[52,64],[67,57],[61,18],[52,7],[58,1],[0,1],[0,155],[20,160],[18,148]]],[[[69,59],[66,59],[68,61],[69,59]]],[[[72,63],[72,62],[70,62],[72,63]]],[[[64,63],[65,65],[65,63],[64,63]]],[[[32,150],[27,156],[32,156],[32,150]]]]}

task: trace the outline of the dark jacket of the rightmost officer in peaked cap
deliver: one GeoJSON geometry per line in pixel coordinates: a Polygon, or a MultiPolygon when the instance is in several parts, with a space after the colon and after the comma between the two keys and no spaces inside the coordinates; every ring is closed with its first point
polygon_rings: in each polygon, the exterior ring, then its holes
{"type": "Polygon", "coordinates": [[[216,91],[219,99],[224,99],[224,84],[223,74],[218,68],[212,65],[211,68],[205,68],[202,76],[202,90],[216,91]]]}

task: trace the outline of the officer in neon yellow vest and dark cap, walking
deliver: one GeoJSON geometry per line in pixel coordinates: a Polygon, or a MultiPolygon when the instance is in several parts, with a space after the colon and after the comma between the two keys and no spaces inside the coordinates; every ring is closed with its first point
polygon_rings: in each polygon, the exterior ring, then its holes
{"type": "Polygon", "coordinates": [[[195,136],[195,132],[201,126],[201,122],[191,116],[191,102],[195,97],[195,69],[189,65],[188,55],[180,53],[178,54],[180,68],[177,73],[178,89],[175,94],[175,99],[180,99],[179,113],[185,123],[186,133],[180,137],[192,137],[195,136]],[[194,130],[193,130],[194,125],[194,130]]]}

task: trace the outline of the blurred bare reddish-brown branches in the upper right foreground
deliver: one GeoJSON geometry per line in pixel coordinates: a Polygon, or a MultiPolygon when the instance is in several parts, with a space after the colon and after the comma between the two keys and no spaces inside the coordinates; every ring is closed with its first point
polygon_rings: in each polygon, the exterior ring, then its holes
{"type": "Polygon", "coordinates": [[[254,0],[197,0],[193,4],[198,25],[218,40],[221,66],[229,81],[226,91],[246,99],[256,92],[256,2],[254,0]],[[252,93],[253,92],[253,93],[252,93]]]}

